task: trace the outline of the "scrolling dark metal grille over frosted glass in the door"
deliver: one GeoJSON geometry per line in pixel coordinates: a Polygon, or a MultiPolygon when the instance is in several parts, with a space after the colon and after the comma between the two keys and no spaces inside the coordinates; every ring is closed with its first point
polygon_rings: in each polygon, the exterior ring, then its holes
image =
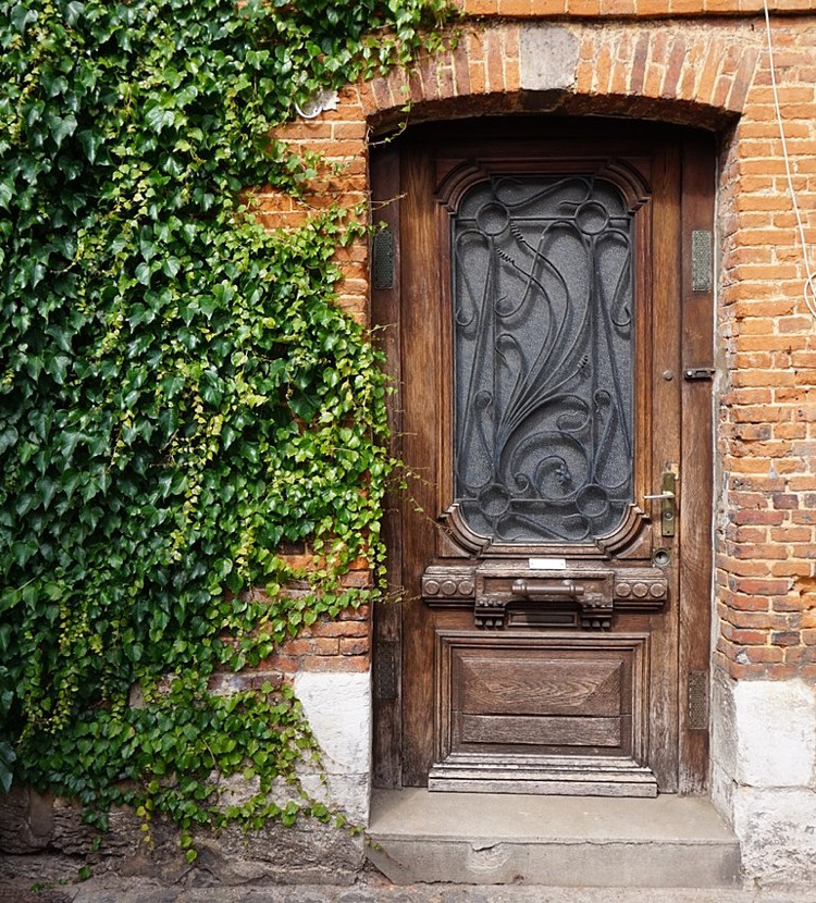
{"type": "Polygon", "coordinates": [[[461,515],[590,543],[632,502],[633,214],[591,176],[496,176],[452,228],[461,515]]]}

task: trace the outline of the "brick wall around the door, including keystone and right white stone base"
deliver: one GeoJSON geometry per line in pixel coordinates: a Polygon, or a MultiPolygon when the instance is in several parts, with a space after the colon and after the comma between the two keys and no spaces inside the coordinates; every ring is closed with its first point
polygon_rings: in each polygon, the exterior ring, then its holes
{"type": "MultiPolygon", "coordinates": [[[[313,196],[258,191],[264,222],[367,198],[372,143],[405,124],[548,113],[709,129],[716,185],[712,799],[743,870],[816,882],[816,324],[788,191],[762,0],[461,0],[456,45],[349,85],[279,137],[320,150],[313,196]],[[774,753],[768,753],[772,738],[774,753]]],[[[816,8],[769,0],[792,178],[816,267],[816,8]]],[[[375,212],[374,212],[375,215],[375,212]]],[[[338,255],[338,304],[368,322],[367,247],[338,255]]],[[[364,579],[358,574],[355,579],[364,579]]],[[[319,624],[272,666],[369,667],[368,613],[319,624]],[[334,630],[341,630],[335,634],[334,630]],[[343,631],[349,630],[349,633],[343,631]]]]}

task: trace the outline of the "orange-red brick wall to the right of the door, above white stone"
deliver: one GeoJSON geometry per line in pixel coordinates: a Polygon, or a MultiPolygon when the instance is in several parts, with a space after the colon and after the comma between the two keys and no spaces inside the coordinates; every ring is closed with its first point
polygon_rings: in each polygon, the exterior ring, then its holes
{"type": "MultiPolygon", "coordinates": [[[[774,48],[793,184],[816,261],[816,16],[775,20],[774,48]]],[[[717,657],[733,677],[813,679],[816,335],[802,298],[802,247],[764,46],[724,148],[718,219],[728,383],[718,419],[717,657]]]]}

